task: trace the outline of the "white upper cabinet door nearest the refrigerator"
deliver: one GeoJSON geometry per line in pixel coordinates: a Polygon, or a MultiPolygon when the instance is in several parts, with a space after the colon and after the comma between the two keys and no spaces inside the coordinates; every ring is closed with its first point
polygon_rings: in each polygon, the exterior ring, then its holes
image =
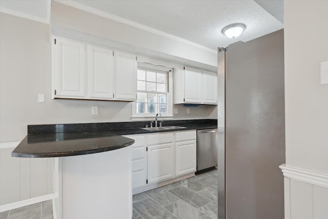
{"type": "Polygon", "coordinates": [[[203,71],[203,97],[204,104],[217,104],[217,74],[203,71]]]}

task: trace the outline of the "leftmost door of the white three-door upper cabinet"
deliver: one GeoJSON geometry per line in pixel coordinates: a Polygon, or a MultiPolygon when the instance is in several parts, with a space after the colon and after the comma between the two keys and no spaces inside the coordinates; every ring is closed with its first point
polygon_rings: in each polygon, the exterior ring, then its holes
{"type": "Polygon", "coordinates": [[[53,45],[53,97],[83,98],[86,96],[85,45],[56,37],[53,45]]]}

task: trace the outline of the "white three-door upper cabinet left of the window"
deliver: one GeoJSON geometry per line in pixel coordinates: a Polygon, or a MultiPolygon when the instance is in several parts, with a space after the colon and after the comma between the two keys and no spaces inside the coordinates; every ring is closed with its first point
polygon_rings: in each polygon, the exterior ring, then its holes
{"type": "Polygon", "coordinates": [[[52,98],[137,98],[136,55],[53,37],[52,57],[52,98]]]}

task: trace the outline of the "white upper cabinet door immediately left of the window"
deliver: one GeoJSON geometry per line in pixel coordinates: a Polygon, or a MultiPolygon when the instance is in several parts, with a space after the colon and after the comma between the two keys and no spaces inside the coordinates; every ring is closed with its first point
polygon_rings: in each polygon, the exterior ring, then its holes
{"type": "Polygon", "coordinates": [[[115,99],[137,99],[137,60],[135,55],[115,51],[115,99]]]}

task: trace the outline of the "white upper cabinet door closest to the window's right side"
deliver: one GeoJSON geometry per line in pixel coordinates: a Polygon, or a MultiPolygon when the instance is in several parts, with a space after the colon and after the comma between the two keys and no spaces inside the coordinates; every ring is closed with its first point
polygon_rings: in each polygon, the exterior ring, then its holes
{"type": "Polygon", "coordinates": [[[201,103],[202,72],[185,67],[185,103],[201,103]]]}

